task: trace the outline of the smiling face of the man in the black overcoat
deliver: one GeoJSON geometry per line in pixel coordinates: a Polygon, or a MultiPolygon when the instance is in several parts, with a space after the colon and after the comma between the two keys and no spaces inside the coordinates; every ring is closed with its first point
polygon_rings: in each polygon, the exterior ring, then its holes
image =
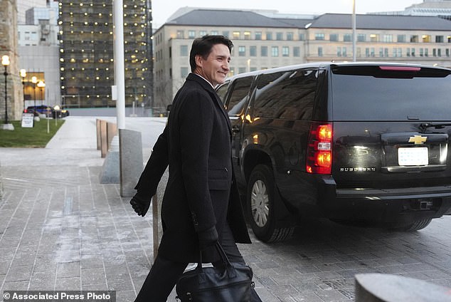
{"type": "Polygon", "coordinates": [[[224,83],[230,63],[230,51],[224,44],[215,44],[206,59],[196,56],[196,73],[202,75],[211,85],[216,86],[224,83]]]}

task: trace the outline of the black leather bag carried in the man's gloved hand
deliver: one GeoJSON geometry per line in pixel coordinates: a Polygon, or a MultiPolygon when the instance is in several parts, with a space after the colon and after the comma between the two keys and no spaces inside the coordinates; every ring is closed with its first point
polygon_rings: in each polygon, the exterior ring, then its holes
{"type": "Polygon", "coordinates": [[[225,269],[202,267],[186,271],[176,283],[177,300],[181,302],[249,302],[253,288],[253,271],[249,266],[231,263],[221,244],[216,244],[225,269]]]}

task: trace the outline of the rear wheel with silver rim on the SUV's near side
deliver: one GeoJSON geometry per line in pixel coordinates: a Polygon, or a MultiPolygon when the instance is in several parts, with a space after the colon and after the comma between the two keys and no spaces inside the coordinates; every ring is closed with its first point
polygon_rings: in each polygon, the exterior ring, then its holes
{"type": "Polygon", "coordinates": [[[275,194],[278,192],[270,167],[258,165],[254,168],[250,174],[247,191],[246,209],[255,236],[268,243],[289,239],[295,227],[276,227],[275,194]]]}

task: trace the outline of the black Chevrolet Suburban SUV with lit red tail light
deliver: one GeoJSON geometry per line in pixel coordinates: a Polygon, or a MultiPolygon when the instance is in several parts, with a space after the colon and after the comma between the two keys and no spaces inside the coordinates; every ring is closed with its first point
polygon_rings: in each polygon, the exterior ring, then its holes
{"type": "Polygon", "coordinates": [[[451,71],[308,63],[217,88],[255,235],[280,241],[303,216],[413,231],[451,214],[451,71]]]}

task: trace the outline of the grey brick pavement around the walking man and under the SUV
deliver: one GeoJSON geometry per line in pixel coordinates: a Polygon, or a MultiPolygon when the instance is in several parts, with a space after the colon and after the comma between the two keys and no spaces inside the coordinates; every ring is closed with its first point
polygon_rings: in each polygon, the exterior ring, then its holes
{"type": "MultiPolygon", "coordinates": [[[[109,289],[133,301],[152,264],[152,217],[99,183],[99,151],[0,148],[0,165],[0,292],[109,289]]],[[[410,234],[311,219],[290,241],[239,248],[265,302],[352,301],[367,272],[451,287],[450,216],[410,234]]]]}

